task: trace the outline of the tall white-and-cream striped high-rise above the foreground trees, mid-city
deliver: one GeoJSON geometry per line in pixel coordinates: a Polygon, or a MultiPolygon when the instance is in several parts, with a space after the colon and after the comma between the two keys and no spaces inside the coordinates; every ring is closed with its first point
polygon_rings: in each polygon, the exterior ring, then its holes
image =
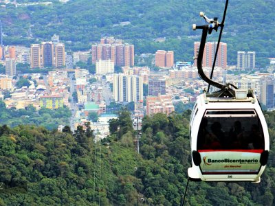
{"type": "Polygon", "coordinates": [[[114,73],[113,98],[115,102],[138,102],[143,100],[142,77],[114,73]]]}

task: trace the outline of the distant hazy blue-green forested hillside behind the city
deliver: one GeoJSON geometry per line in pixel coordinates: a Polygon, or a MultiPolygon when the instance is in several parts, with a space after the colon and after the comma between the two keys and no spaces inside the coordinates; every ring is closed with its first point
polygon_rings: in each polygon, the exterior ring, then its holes
{"type": "MultiPolygon", "coordinates": [[[[37,2],[39,0],[22,2],[37,2]]],[[[193,43],[200,32],[193,23],[203,23],[199,12],[221,20],[225,1],[221,0],[70,0],[63,4],[0,8],[5,45],[50,41],[59,34],[66,47],[74,51],[89,49],[101,36],[115,36],[135,45],[137,54],[157,49],[175,51],[176,60],[192,60],[193,43]],[[128,25],[121,22],[129,21],[128,25]],[[164,43],[154,38],[166,37],[164,43]],[[72,42],[70,42],[72,41],[72,42]]],[[[222,41],[228,43],[228,63],[236,64],[237,51],[256,51],[256,65],[265,65],[275,56],[275,1],[229,1],[222,41]]],[[[217,39],[217,34],[212,35],[217,39]]]]}

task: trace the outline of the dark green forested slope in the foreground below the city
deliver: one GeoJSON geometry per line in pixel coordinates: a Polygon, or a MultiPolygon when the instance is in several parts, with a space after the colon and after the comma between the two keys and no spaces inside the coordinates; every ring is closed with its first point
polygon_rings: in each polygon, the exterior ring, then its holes
{"type": "MultiPolygon", "coordinates": [[[[112,135],[101,145],[81,127],[72,135],[69,128],[1,126],[0,205],[180,205],[189,115],[145,117],[140,154],[127,111],[111,121],[112,135]]],[[[191,182],[186,205],[275,204],[275,112],[265,116],[272,152],[261,183],[191,182]]]]}

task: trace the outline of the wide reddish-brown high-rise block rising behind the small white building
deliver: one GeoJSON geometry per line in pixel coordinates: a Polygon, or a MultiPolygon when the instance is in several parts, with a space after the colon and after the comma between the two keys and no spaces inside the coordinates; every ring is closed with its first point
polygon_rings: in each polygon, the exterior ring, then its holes
{"type": "Polygon", "coordinates": [[[101,40],[100,44],[91,45],[91,60],[95,64],[97,60],[113,60],[117,66],[133,66],[135,61],[134,46],[115,41],[101,40]]]}

